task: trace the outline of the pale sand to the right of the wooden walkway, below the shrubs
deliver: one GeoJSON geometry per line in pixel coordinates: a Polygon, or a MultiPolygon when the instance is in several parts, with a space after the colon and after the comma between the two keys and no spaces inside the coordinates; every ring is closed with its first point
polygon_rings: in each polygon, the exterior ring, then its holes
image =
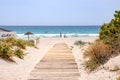
{"type": "Polygon", "coordinates": [[[105,68],[99,68],[98,70],[88,74],[85,71],[85,66],[84,66],[85,59],[83,58],[83,53],[86,47],[87,46],[84,46],[82,49],[80,49],[78,46],[74,45],[74,48],[72,50],[81,75],[80,80],[116,80],[116,78],[120,76],[120,63],[119,63],[120,56],[111,58],[105,65],[103,65],[105,68]],[[115,66],[117,66],[117,69],[119,70],[111,71],[111,70],[116,70],[115,66]]]}

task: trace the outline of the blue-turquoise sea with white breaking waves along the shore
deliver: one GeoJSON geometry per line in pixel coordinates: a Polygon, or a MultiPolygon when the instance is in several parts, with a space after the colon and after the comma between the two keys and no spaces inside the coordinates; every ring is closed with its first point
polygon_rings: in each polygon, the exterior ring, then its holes
{"type": "Polygon", "coordinates": [[[0,26],[7,30],[16,32],[19,38],[27,37],[24,35],[26,32],[31,32],[32,38],[58,38],[60,33],[62,37],[83,37],[83,36],[99,36],[100,25],[87,25],[87,26],[0,26]]]}

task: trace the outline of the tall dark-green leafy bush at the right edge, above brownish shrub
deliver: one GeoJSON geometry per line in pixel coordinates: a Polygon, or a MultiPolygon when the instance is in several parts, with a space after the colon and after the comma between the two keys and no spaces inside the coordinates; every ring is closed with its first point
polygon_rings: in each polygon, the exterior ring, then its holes
{"type": "Polygon", "coordinates": [[[120,53],[120,11],[115,11],[114,18],[100,28],[100,40],[112,46],[112,53],[120,53]]]}

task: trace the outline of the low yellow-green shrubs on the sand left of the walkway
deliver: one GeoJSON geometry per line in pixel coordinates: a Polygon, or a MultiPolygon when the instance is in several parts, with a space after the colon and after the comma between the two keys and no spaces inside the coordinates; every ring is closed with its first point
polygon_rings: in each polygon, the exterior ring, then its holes
{"type": "Polygon", "coordinates": [[[8,37],[0,39],[0,58],[8,61],[14,61],[13,57],[16,56],[20,59],[24,58],[24,50],[27,46],[35,47],[33,42],[25,41],[8,37]]]}

